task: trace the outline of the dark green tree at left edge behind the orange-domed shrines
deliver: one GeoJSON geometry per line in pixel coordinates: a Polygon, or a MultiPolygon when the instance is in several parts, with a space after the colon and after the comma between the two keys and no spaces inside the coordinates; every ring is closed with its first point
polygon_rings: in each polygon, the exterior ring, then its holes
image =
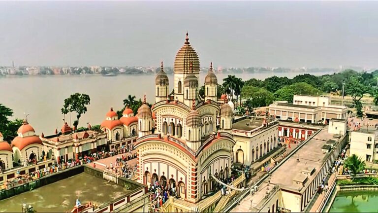
{"type": "Polygon", "coordinates": [[[8,117],[13,116],[13,110],[0,104],[0,132],[4,137],[4,141],[12,141],[17,136],[17,130],[22,125],[20,119],[9,120],[8,117]]]}

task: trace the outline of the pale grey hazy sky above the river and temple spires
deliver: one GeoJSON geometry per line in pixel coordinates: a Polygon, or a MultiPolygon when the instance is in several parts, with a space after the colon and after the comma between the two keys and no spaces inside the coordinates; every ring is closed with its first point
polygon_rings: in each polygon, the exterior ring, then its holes
{"type": "Polygon", "coordinates": [[[378,2],[0,2],[0,66],[378,67],[378,2]]]}

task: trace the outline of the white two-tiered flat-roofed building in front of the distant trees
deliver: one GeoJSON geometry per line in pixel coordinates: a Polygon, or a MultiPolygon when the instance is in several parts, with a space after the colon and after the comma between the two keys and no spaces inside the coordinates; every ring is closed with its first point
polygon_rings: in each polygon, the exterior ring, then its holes
{"type": "Polygon", "coordinates": [[[293,103],[278,101],[269,105],[270,116],[306,123],[329,123],[330,119],[346,119],[347,109],[347,106],[331,105],[331,98],[324,96],[294,95],[293,103]]]}

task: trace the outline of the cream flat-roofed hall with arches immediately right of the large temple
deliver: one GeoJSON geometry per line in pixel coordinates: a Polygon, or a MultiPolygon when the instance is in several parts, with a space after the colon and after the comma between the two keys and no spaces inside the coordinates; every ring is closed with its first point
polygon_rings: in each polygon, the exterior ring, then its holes
{"type": "Polygon", "coordinates": [[[278,120],[243,116],[232,124],[234,162],[250,166],[278,146],[278,120]]]}

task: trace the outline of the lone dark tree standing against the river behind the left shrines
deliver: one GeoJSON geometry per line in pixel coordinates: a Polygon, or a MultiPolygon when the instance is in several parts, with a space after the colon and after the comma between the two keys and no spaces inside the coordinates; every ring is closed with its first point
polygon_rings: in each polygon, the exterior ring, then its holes
{"type": "Polygon", "coordinates": [[[76,118],[73,125],[77,128],[79,124],[79,119],[82,114],[87,112],[87,105],[91,104],[91,98],[87,94],[75,93],[69,98],[64,99],[64,105],[61,109],[62,113],[65,115],[68,112],[76,112],[76,118]]]}

